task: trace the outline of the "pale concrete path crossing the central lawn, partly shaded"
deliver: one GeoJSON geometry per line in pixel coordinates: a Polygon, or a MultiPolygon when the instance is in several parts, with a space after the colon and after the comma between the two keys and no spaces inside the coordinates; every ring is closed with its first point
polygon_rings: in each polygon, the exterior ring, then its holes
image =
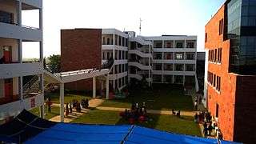
{"type": "MultiPolygon", "coordinates": [[[[98,106],[98,110],[112,110],[112,111],[124,111],[126,108],[119,108],[119,107],[107,107],[107,106],[98,106]]],[[[150,114],[163,114],[163,115],[172,115],[170,110],[146,110],[147,113],[150,114]]],[[[181,115],[184,116],[192,116],[194,117],[194,114],[197,111],[181,111],[181,115]]]]}

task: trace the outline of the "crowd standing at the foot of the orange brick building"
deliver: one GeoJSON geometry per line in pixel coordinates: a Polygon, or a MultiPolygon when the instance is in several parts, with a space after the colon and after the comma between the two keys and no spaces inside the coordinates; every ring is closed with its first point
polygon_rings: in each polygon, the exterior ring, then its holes
{"type": "Polygon", "coordinates": [[[218,124],[214,121],[210,112],[202,111],[194,114],[194,122],[202,123],[205,138],[216,136],[218,139],[222,139],[222,132],[218,129],[218,124]]]}

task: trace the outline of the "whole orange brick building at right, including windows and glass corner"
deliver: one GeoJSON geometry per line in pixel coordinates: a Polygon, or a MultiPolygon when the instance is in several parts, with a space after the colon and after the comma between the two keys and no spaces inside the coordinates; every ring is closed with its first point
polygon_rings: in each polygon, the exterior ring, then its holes
{"type": "Polygon", "coordinates": [[[250,7],[243,0],[226,1],[206,24],[205,42],[208,110],[225,140],[246,143],[256,142],[256,41],[250,42],[254,53],[242,43],[256,38],[250,33],[256,27],[242,22],[244,9],[250,7]],[[232,23],[236,17],[241,20],[238,26],[232,23]]]}

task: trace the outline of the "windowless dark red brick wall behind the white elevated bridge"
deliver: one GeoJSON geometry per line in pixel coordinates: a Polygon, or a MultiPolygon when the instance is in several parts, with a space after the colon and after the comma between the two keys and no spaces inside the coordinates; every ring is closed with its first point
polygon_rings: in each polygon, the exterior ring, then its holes
{"type": "MultiPolygon", "coordinates": [[[[61,30],[61,70],[100,68],[102,64],[102,30],[61,30]]],[[[100,85],[97,84],[97,89],[100,85]]],[[[65,84],[69,90],[92,90],[92,78],[65,84]]]]}

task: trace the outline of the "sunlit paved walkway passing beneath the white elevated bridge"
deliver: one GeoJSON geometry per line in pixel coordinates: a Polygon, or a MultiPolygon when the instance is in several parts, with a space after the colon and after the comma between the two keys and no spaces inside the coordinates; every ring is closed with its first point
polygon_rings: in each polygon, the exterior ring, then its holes
{"type": "MultiPolygon", "coordinates": [[[[94,108],[94,107],[97,107],[97,106],[101,105],[102,102],[104,102],[104,100],[102,100],[102,99],[97,99],[97,98],[90,99],[89,106],[90,106],[90,108],[94,108]]],[[[58,106],[59,107],[60,104],[59,103],[53,103],[52,106],[56,106],[56,107],[58,106]]],[[[88,113],[88,111],[89,111],[89,109],[83,109],[83,108],[81,110],[81,113],[78,113],[75,110],[73,110],[72,114],[69,114],[68,116],[66,116],[66,115],[64,116],[64,122],[71,122],[74,119],[79,118],[83,114],[88,113]]],[[[55,116],[54,118],[50,118],[50,121],[53,121],[53,122],[60,122],[60,120],[61,120],[60,115],[55,116]]]]}

